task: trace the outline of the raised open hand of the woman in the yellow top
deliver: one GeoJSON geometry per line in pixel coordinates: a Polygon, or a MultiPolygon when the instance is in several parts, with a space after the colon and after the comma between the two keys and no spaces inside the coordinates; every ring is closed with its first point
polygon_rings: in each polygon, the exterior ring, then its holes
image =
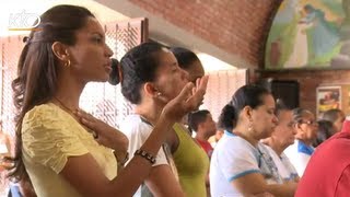
{"type": "Polygon", "coordinates": [[[186,114],[198,109],[206,94],[209,77],[197,79],[194,83],[187,83],[183,91],[174,100],[170,101],[163,108],[163,115],[172,120],[179,121],[186,114]]]}

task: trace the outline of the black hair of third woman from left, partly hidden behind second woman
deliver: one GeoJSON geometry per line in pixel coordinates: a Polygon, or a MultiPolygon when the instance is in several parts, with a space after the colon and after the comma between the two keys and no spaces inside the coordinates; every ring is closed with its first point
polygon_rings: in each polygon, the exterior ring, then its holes
{"type": "Polygon", "coordinates": [[[172,47],[170,48],[170,50],[176,57],[178,66],[184,70],[189,69],[192,62],[199,61],[199,58],[197,57],[197,55],[186,48],[172,47]]]}

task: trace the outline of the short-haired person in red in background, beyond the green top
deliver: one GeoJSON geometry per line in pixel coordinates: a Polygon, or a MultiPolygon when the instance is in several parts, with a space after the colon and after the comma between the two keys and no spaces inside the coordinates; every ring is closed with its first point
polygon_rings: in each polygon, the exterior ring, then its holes
{"type": "Polygon", "coordinates": [[[208,142],[210,136],[217,131],[215,121],[212,119],[209,111],[197,111],[189,114],[188,125],[191,130],[196,131],[196,141],[211,158],[213,148],[208,142]]]}

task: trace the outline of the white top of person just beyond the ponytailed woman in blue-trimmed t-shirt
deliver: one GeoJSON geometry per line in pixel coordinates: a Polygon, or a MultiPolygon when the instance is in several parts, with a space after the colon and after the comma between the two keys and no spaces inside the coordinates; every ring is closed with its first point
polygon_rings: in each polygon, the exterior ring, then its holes
{"type": "Polygon", "coordinates": [[[277,169],[278,173],[282,176],[284,181],[292,181],[295,177],[298,177],[298,172],[291,161],[287,158],[287,155],[282,152],[281,155],[278,155],[273,149],[271,149],[269,146],[266,146],[266,149],[269,151],[270,157],[272,158],[277,169]]]}

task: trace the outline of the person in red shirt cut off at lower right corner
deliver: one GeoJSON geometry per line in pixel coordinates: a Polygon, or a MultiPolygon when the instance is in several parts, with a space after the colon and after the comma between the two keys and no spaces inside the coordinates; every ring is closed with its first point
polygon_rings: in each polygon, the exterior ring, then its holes
{"type": "Polygon", "coordinates": [[[295,197],[349,196],[350,121],[317,147],[301,177],[295,197]]]}

